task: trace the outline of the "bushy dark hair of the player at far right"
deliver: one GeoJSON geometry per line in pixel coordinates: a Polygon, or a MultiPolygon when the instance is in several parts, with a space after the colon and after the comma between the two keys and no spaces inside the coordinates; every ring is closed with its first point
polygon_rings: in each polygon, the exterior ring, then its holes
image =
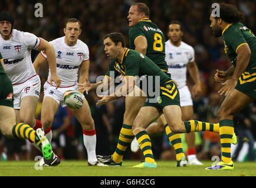
{"type": "MultiPolygon", "coordinates": [[[[244,20],[244,14],[238,10],[237,6],[224,2],[219,3],[219,17],[229,24],[244,20]]],[[[218,17],[216,16],[215,19],[218,17]]]]}

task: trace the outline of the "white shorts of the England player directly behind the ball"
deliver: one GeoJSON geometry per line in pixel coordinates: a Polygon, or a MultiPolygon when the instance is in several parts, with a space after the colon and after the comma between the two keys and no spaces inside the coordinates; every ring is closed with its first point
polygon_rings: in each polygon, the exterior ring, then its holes
{"type": "Polygon", "coordinates": [[[45,82],[44,83],[44,98],[45,97],[50,97],[54,99],[59,105],[61,104],[62,107],[65,107],[64,100],[63,100],[63,95],[66,90],[74,89],[78,91],[78,85],[73,85],[73,86],[67,86],[67,87],[59,87],[56,89],[55,86],[51,86],[50,83],[45,82]]]}

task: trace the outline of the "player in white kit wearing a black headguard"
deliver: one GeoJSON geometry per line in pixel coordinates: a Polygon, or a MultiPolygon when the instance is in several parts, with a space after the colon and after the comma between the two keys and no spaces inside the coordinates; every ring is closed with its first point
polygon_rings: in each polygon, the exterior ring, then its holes
{"type": "MultiPolygon", "coordinates": [[[[55,82],[59,86],[60,78],[56,73],[54,49],[44,39],[38,38],[32,33],[18,31],[13,27],[14,17],[12,14],[2,11],[0,13],[0,52],[4,58],[6,75],[11,80],[14,90],[16,122],[24,122],[36,129],[42,127],[41,122],[35,120],[34,117],[40,96],[41,82],[32,65],[31,49],[47,53],[51,70],[50,83],[55,82]]],[[[32,145],[40,149],[34,143],[32,145]]]]}

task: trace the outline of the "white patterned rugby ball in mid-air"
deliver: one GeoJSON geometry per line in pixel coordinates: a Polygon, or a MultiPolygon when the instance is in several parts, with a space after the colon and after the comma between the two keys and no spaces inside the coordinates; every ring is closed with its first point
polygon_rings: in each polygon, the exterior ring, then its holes
{"type": "Polygon", "coordinates": [[[63,95],[65,105],[71,109],[80,109],[83,106],[83,95],[77,90],[67,90],[63,95]]]}

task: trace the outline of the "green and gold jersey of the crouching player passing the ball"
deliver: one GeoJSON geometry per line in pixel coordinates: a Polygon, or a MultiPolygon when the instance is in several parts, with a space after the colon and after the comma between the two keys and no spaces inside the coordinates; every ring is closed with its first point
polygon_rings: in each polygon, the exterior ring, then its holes
{"type": "MultiPolygon", "coordinates": [[[[160,85],[168,82],[170,77],[167,76],[153,61],[151,61],[147,56],[134,50],[126,48],[123,53],[122,61],[119,62],[117,59],[113,59],[109,65],[109,71],[106,76],[115,79],[117,76],[132,76],[138,78],[137,76],[160,76],[160,85]]],[[[155,83],[155,82],[153,82],[155,83]]]]}

